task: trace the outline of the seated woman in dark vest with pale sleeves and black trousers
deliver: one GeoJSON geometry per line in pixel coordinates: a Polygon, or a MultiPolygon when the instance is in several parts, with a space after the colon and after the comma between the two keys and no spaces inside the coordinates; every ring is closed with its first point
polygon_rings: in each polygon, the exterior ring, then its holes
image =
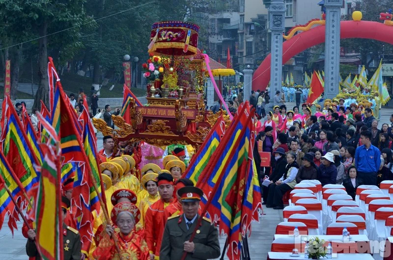
{"type": "Polygon", "coordinates": [[[286,161],[288,164],[280,180],[269,185],[269,195],[266,203],[267,208],[283,209],[284,204],[282,202],[282,196],[285,192],[292,190],[296,185],[295,178],[299,171],[296,155],[289,152],[286,155],[286,161]]]}

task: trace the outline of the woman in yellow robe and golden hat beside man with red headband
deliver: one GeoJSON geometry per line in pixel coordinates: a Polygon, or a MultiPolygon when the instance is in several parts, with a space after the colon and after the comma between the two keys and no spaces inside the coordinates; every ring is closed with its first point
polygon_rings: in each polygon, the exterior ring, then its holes
{"type": "MultiPolygon", "coordinates": [[[[147,196],[140,200],[140,219],[141,223],[144,225],[144,216],[146,215],[147,208],[153,203],[160,199],[160,194],[158,194],[157,179],[158,174],[156,173],[146,173],[143,175],[141,183],[142,188],[147,192],[147,196]]],[[[138,197],[139,199],[139,197],[138,197]]]]}

